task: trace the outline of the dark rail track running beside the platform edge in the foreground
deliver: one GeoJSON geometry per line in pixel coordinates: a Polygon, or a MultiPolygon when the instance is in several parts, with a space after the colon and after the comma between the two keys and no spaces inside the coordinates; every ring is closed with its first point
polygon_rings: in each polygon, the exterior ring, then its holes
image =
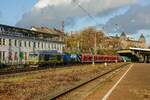
{"type": "Polygon", "coordinates": [[[121,66],[119,66],[117,68],[114,68],[114,69],[111,69],[111,70],[109,70],[107,72],[101,73],[100,75],[94,76],[93,78],[87,79],[86,81],[81,82],[81,83],[77,84],[76,86],[67,88],[66,90],[60,91],[60,92],[58,92],[56,94],[52,94],[52,95],[49,96],[50,97],[49,99],[50,100],[56,100],[56,99],[58,99],[58,98],[60,98],[62,96],[67,95],[68,93],[70,93],[72,91],[75,91],[78,88],[81,88],[82,86],[84,86],[86,84],[89,84],[90,82],[92,82],[94,80],[97,80],[97,79],[99,79],[99,78],[101,78],[101,77],[103,77],[105,75],[108,75],[108,74],[110,74],[112,72],[115,72],[115,71],[117,71],[117,70],[119,70],[119,69],[121,69],[121,68],[123,68],[123,67],[125,67],[127,65],[129,65],[129,63],[123,64],[123,65],[121,65],[121,66]]]}

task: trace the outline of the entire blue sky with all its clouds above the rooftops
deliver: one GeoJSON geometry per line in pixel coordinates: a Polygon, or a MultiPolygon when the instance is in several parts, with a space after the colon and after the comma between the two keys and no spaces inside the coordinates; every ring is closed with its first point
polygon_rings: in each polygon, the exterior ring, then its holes
{"type": "Polygon", "coordinates": [[[109,35],[141,33],[150,45],[150,0],[1,0],[0,24],[79,31],[93,26],[109,35]]]}

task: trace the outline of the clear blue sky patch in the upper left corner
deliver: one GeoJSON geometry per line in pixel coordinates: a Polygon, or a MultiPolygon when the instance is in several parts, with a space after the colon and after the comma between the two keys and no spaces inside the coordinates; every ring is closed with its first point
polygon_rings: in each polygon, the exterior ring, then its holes
{"type": "Polygon", "coordinates": [[[0,23],[15,25],[25,12],[28,12],[37,0],[1,0],[0,23]]]}

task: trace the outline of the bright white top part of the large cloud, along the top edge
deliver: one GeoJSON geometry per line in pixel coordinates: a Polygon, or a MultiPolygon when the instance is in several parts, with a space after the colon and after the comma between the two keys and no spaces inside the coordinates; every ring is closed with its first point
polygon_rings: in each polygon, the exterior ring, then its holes
{"type": "MultiPolygon", "coordinates": [[[[73,1],[82,4],[85,7],[91,6],[92,9],[108,9],[136,2],[136,0],[39,0],[34,7],[41,9],[47,6],[70,5],[73,1]]],[[[91,9],[91,7],[89,9],[91,9]]]]}

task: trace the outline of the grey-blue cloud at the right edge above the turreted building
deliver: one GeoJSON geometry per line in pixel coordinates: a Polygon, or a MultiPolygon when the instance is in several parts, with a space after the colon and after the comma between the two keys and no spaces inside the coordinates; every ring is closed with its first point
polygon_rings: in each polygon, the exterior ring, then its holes
{"type": "MultiPolygon", "coordinates": [[[[139,30],[150,29],[150,6],[134,5],[125,14],[116,16],[105,25],[108,32],[116,27],[118,32],[137,33],[139,30]],[[117,26],[115,26],[117,24],[117,26]]],[[[144,31],[146,32],[146,31],[144,31]]]]}

